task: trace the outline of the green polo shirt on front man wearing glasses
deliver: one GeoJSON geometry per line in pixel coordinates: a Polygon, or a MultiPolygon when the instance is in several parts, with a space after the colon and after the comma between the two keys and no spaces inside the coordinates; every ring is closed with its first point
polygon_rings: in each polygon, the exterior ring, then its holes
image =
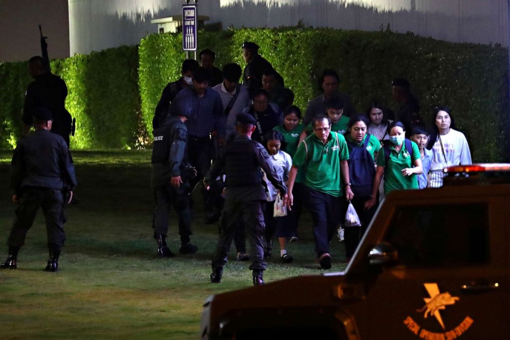
{"type": "Polygon", "coordinates": [[[304,143],[300,143],[292,164],[306,168],[305,185],[331,196],[342,196],[340,161],[349,159],[345,138],[330,132],[326,144],[323,144],[315,134],[306,137],[304,141],[308,146],[308,154],[304,143]],[[335,135],[338,136],[338,143],[335,135]]]}

